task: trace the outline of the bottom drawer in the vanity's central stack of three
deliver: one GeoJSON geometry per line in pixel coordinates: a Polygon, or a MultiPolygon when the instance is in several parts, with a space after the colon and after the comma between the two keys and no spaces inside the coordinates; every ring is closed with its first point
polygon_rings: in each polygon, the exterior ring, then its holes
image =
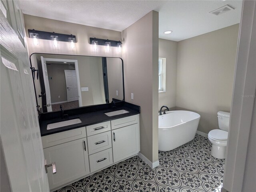
{"type": "Polygon", "coordinates": [[[112,149],[106,149],[93,155],[89,155],[91,172],[108,167],[113,163],[112,149]]]}

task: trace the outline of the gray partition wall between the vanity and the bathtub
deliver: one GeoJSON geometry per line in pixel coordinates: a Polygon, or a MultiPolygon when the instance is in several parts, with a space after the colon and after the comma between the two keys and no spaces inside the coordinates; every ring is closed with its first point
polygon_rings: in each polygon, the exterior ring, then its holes
{"type": "Polygon", "coordinates": [[[158,160],[158,12],[149,12],[122,31],[122,43],[125,100],[141,106],[140,152],[154,162],[158,160]]]}

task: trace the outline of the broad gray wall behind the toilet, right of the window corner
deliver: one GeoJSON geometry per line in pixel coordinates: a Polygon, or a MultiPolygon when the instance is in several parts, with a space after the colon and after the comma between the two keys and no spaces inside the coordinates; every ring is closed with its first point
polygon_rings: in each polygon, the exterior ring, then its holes
{"type": "Polygon", "coordinates": [[[230,112],[239,24],[178,42],[177,109],[200,114],[198,131],[218,129],[230,112]]]}

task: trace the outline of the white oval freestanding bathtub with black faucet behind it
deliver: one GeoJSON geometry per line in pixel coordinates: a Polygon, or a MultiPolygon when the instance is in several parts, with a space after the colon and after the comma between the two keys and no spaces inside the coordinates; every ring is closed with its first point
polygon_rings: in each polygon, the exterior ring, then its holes
{"type": "Polygon", "coordinates": [[[158,116],[159,151],[170,151],[194,139],[200,115],[190,111],[168,111],[158,116]]]}

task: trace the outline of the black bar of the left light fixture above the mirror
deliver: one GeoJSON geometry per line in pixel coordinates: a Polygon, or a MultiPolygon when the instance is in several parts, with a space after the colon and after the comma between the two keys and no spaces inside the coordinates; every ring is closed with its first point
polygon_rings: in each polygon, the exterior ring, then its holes
{"type": "MultiPolygon", "coordinates": [[[[38,34],[38,39],[46,39],[46,40],[52,40],[52,35],[54,34],[55,36],[58,36],[58,41],[64,41],[64,42],[70,42],[68,38],[72,37],[74,38],[74,43],[76,43],[76,35],[67,35],[67,34],[62,34],[62,33],[54,33],[54,32],[46,32],[46,31],[37,31],[34,29],[28,29],[28,34],[30,33],[37,33],[38,34]]],[[[32,38],[32,37],[30,37],[32,38]]]]}

